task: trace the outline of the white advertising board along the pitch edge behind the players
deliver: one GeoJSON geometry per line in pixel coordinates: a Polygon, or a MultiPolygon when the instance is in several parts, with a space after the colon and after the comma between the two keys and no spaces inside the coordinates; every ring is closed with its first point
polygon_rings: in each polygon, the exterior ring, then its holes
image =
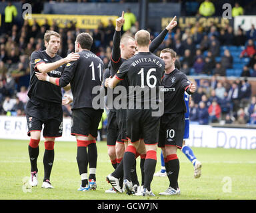
{"type": "MultiPolygon", "coordinates": [[[[191,124],[186,144],[208,148],[256,149],[255,132],[253,128],[220,128],[191,124]]],[[[56,140],[75,142],[75,136],[70,133],[71,118],[63,118],[63,134],[56,140]]],[[[29,140],[25,116],[0,116],[0,138],[29,140]]]]}

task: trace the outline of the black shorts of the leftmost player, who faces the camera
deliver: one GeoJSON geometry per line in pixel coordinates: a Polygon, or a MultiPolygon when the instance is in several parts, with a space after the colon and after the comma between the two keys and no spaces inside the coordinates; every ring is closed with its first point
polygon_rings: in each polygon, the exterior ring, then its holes
{"type": "Polygon", "coordinates": [[[30,99],[25,108],[27,118],[27,135],[32,131],[41,131],[44,137],[61,137],[63,111],[61,105],[30,99]]]}

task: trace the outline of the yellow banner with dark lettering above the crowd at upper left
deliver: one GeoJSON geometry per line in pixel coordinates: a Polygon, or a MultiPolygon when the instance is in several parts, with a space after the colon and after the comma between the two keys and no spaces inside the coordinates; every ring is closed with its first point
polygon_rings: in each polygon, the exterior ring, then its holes
{"type": "Polygon", "coordinates": [[[33,25],[33,22],[36,21],[38,25],[44,25],[47,20],[48,24],[51,26],[53,23],[56,23],[58,27],[65,28],[71,27],[72,24],[79,29],[97,29],[100,23],[103,23],[104,26],[107,26],[109,20],[115,25],[115,19],[117,16],[110,15],[51,15],[51,14],[32,14],[29,21],[29,25],[33,25]]]}

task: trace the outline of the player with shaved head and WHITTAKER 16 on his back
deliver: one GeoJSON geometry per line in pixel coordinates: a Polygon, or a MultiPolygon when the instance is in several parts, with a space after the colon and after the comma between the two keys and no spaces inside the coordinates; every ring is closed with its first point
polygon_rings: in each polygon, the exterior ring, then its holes
{"type": "MultiPolygon", "coordinates": [[[[113,88],[127,78],[129,86],[139,86],[139,87],[149,87],[158,88],[160,86],[161,77],[164,71],[164,62],[149,52],[150,34],[145,30],[138,31],[135,34],[135,42],[139,53],[125,61],[115,77],[106,80],[106,87],[113,88]],[[140,61],[135,65],[135,61],[140,61]],[[135,65],[135,66],[132,66],[135,65]],[[149,75],[154,81],[149,81],[149,75]],[[147,79],[146,79],[147,78],[147,79]]],[[[145,96],[144,96],[145,97],[145,96]]],[[[129,94],[129,99],[136,100],[136,95],[134,93],[129,94]],[[131,95],[131,97],[130,97],[131,95]]],[[[137,100],[141,101],[143,107],[144,104],[149,103],[153,97],[149,95],[149,100],[147,97],[145,99],[137,100]]],[[[155,99],[158,100],[156,95],[155,99]]],[[[155,196],[151,192],[151,181],[153,179],[153,174],[155,172],[155,165],[157,162],[157,140],[159,133],[159,116],[152,116],[153,109],[137,109],[135,103],[135,109],[127,109],[127,138],[128,146],[125,150],[123,156],[123,184],[125,186],[125,191],[127,194],[134,194],[133,185],[131,184],[131,168],[135,162],[135,155],[137,148],[139,147],[139,139],[141,136],[144,138],[145,148],[147,154],[145,157],[145,183],[143,189],[143,196],[155,196]]],[[[108,176],[111,178],[111,176],[108,176]]]]}

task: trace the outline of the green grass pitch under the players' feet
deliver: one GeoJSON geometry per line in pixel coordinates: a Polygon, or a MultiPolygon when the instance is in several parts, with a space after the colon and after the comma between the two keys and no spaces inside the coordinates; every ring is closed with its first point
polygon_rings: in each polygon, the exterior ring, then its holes
{"type": "MultiPolygon", "coordinates": [[[[159,196],[168,186],[167,177],[154,177],[151,184],[155,197],[105,194],[110,188],[105,180],[113,172],[106,142],[97,142],[97,190],[79,192],[81,180],[76,162],[75,142],[55,142],[55,161],[51,172],[53,189],[43,189],[44,144],[39,144],[39,185],[31,192],[24,192],[22,180],[29,176],[28,141],[0,140],[0,199],[1,200],[255,200],[256,199],[256,150],[224,148],[195,148],[195,156],[202,162],[202,176],[193,178],[193,166],[178,151],[180,161],[179,196],[159,196]]],[[[160,168],[160,149],[157,150],[157,168],[160,168]]],[[[141,182],[139,158],[137,174],[141,182]]]]}

